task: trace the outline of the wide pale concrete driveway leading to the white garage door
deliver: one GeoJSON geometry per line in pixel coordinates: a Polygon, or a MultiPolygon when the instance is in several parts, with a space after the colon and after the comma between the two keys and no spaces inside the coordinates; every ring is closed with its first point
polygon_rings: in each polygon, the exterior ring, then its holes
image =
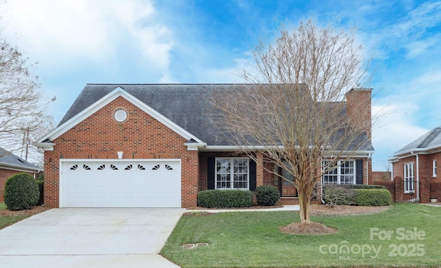
{"type": "Polygon", "coordinates": [[[50,209],[0,230],[0,267],[178,267],[158,255],[185,209],[50,209]]]}

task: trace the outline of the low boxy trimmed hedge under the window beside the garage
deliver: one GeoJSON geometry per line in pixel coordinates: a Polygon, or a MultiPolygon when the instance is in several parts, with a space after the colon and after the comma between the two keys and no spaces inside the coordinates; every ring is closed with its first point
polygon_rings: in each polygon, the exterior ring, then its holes
{"type": "Polygon", "coordinates": [[[253,194],[248,190],[207,190],[198,192],[199,207],[251,207],[253,194]]]}

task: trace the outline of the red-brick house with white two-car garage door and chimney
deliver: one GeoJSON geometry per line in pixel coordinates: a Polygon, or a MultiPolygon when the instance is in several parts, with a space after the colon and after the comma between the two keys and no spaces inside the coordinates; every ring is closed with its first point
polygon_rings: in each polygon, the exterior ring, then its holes
{"type": "MultiPolygon", "coordinates": [[[[58,127],[36,143],[45,150],[45,205],[195,207],[201,190],[258,185],[275,185],[283,203],[296,203],[295,187],[263,168],[273,164],[261,153],[252,161],[209,120],[203,96],[232,87],[249,85],[85,85],[58,127]]],[[[361,119],[370,122],[371,90],[348,92],[342,116],[359,116],[357,107],[369,110],[361,119]]],[[[365,149],[328,181],[367,183],[373,147],[366,135],[365,149]]]]}

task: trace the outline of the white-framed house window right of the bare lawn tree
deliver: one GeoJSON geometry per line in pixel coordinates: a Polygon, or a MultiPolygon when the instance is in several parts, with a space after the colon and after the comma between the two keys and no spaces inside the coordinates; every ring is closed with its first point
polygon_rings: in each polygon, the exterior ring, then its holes
{"type": "MultiPolygon", "coordinates": [[[[323,166],[329,161],[323,161],[323,166]]],[[[355,161],[338,161],[338,167],[323,174],[324,184],[356,184],[355,161]]]]}

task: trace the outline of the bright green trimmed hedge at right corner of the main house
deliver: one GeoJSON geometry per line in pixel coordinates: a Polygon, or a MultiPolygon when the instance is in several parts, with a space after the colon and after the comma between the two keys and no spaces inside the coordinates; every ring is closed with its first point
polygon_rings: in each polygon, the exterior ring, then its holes
{"type": "Polygon", "coordinates": [[[383,206],[391,205],[391,193],[387,189],[354,189],[355,205],[383,206]]]}

